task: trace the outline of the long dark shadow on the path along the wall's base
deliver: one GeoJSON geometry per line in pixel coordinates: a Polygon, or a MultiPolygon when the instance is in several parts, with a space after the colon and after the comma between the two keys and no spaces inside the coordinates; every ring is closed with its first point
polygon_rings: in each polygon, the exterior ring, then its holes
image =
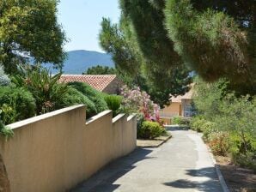
{"type": "Polygon", "coordinates": [[[117,159],[106,165],[101,171],[98,171],[94,176],[76,186],[75,189],[70,189],[70,192],[112,192],[119,188],[119,184],[113,184],[119,177],[124,176],[127,172],[136,167],[138,161],[143,159],[153,159],[147,157],[152,150],[147,148],[136,148],[129,155],[117,159]]]}

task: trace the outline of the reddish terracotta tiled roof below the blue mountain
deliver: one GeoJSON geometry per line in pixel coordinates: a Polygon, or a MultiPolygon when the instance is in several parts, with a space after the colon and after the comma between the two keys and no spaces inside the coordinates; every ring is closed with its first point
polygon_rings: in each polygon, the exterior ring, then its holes
{"type": "Polygon", "coordinates": [[[61,75],[60,82],[85,82],[98,91],[103,91],[117,75],[61,75]]]}

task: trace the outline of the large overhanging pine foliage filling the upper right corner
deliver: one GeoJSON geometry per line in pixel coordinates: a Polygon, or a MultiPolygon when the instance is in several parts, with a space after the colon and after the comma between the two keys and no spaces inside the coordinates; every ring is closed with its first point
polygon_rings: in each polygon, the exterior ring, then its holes
{"type": "Polygon", "coordinates": [[[131,20],[143,56],[157,63],[155,66],[175,69],[186,63],[204,81],[224,77],[235,90],[256,93],[255,1],[120,3],[125,17],[131,20]]]}

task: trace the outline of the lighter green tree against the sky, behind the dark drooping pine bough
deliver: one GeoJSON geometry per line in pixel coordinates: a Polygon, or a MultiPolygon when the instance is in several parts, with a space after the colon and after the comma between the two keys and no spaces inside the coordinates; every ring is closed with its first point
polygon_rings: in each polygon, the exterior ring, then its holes
{"type": "Polygon", "coordinates": [[[144,57],[133,33],[131,21],[125,15],[121,15],[119,25],[103,19],[101,27],[101,46],[113,55],[119,75],[125,78],[125,83],[130,87],[141,87],[162,107],[169,105],[170,93],[182,94],[187,91],[186,85],[191,80],[188,70],[180,66],[166,69],[144,57]]]}

